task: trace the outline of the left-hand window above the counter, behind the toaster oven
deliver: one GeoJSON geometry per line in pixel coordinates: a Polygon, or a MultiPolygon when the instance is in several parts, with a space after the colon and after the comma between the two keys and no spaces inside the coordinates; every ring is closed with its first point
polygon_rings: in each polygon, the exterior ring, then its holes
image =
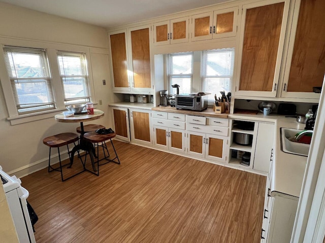
{"type": "Polygon", "coordinates": [[[179,94],[191,93],[193,79],[193,52],[167,55],[168,93],[172,94],[172,85],[178,84],[179,94]]]}

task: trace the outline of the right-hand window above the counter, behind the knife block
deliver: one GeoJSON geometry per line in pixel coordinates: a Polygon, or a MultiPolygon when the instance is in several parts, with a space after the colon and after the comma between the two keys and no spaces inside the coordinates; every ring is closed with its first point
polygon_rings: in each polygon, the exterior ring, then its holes
{"type": "Polygon", "coordinates": [[[209,92],[208,104],[213,105],[221,96],[220,91],[232,91],[235,48],[208,50],[202,52],[201,59],[201,90],[209,92]]]}

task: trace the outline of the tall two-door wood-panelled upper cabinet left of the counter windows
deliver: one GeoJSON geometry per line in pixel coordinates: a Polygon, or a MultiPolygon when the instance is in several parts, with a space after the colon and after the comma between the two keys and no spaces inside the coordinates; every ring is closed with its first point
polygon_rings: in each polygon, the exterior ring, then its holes
{"type": "Polygon", "coordinates": [[[114,92],[152,92],[151,25],[110,33],[114,92]]]}

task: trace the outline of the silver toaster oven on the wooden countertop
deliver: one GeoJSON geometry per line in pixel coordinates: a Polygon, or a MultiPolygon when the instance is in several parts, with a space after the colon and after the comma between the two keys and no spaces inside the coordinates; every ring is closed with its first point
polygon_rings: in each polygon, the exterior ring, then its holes
{"type": "Polygon", "coordinates": [[[176,109],[205,110],[208,108],[207,95],[175,95],[176,109]]]}

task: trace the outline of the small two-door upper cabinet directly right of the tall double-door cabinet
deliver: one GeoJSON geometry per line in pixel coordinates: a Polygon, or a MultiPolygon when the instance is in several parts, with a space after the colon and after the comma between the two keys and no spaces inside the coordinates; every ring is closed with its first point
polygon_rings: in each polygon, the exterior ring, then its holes
{"type": "Polygon", "coordinates": [[[155,46],[188,42],[188,17],[155,23],[153,29],[155,46]]]}

